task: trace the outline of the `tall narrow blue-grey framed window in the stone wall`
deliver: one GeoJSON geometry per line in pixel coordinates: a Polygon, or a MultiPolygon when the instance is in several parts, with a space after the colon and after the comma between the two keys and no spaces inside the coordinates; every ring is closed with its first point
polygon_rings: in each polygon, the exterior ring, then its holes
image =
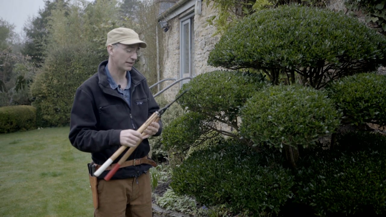
{"type": "MultiPolygon", "coordinates": [[[[180,24],[180,78],[193,75],[193,16],[194,14],[190,14],[184,17],[180,24]]],[[[181,86],[188,81],[188,79],[181,81],[181,86]]]]}

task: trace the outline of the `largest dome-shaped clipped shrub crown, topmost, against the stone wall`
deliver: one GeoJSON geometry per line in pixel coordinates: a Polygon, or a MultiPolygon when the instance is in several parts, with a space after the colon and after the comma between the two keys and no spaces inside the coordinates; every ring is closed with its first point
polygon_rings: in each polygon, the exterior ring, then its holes
{"type": "Polygon", "coordinates": [[[208,64],[264,71],[273,84],[322,88],[336,78],[386,65],[386,38],[328,9],[282,5],[258,11],[226,31],[208,64]]]}

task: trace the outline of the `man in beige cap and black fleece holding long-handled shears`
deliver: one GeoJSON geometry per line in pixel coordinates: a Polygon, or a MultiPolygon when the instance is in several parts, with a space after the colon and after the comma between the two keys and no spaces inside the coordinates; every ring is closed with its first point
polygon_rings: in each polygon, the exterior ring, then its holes
{"type": "Polygon", "coordinates": [[[148,170],[154,162],[147,159],[150,151],[147,138],[161,134],[162,124],[152,122],[143,138],[136,131],[159,106],[146,78],[133,67],[139,49],[145,48],[146,43],[132,29],[121,27],[108,32],[106,46],[108,60],[100,63],[97,73],[76,91],[69,140],[80,151],[91,153],[98,168],[120,146],[134,147],[143,139],[110,181],[103,180],[108,173],[104,171],[91,188],[95,187],[93,199],[97,198],[94,216],[151,217],[148,170]]]}

